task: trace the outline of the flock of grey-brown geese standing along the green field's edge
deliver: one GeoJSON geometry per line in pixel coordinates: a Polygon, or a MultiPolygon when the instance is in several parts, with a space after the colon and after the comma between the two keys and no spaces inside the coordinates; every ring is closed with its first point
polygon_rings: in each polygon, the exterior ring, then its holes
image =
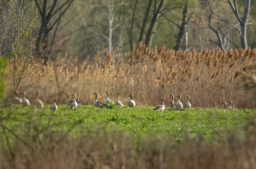
{"type": "MultiPolygon", "coordinates": [[[[111,107],[111,103],[115,104],[115,106],[121,106],[121,107],[124,106],[124,104],[119,100],[119,95],[121,93],[117,92],[117,97],[115,99],[115,102],[108,98],[108,95],[109,95],[108,91],[106,91],[105,93],[106,93],[105,103],[98,101],[97,100],[98,94],[97,93],[93,93],[95,95],[95,99],[94,99],[94,102],[93,102],[95,107],[97,107],[97,108],[110,108],[111,107]]],[[[24,91],[22,91],[22,93],[21,93],[23,95],[23,98],[19,98],[18,97],[18,92],[17,91],[15,91],[14,94],[15,94],[15,96],[14,96],[14,103],[15,104],[22,104],[23,106],[29,106],[30,105],[29,100],[26,99],[26,97],[25,97],[25,92],[24,91]]],[[[42,108],[44,105],[43,105],[43,102],[38,98],[38,94],[39,94],[39,91],[36,91],[36,99],[34,101],[34,105],[37,106],[38,108],[42,108]]],[[[73,93],[71,95],[74,96],[73,99],[69,99],[70,98],[70,94],[69,93],[65,94],[65,96],[66,96],[66,104],[70,108],[76,109],[77,106],[82,105],[82,103],[79,102],[78,98],[76,98],[76,93],[73,93]]],[[[170,96],[171,96],[171,102],[169,103],[169,104],[171,104],[170,111],[172,111],[172,110],[180,110],[180,111],[182,111],[182,110],[190,109],[191,108],[191,104],[189,103],[189,99],[190,99],[189,95],[186,95],[187,99],[186,99],[186,104],[184,104],[184,106],[183,106],[183,104],[180,101],[180,95],[176,96],[176,97],[178,97],[177,103],[174,102],[174,95],[171,94],[170,96]]],[[[132,99],[132,95],[128,95],[127,97],[129,97],[127,105],[129,107],[135,107],[136,103],[132,99]]],[[[166,101],[166,100],[162,98],[161,99],[161,104],[156,106],[156,108],[154,108],[154,111],[163,111],[163,110],[165,110],[165,104],[163,103],[163,101],[166,101]]],[[[52,110],[52,111],[57,110],[58,106],[56,105],[56,103],[57,103],[57,98],[54,98],[54,103],[50,106],[49,109],[52,110]]],[[[236,109],[236,108],[232,107],[232,101],[231,100],[229,100],[228,103],[229,103],[228,109],[236,109]]],[[[223,112],[225,112],[226,111],[227,102],[224,101],[222,104],[224,105],[223,112]]]]}

